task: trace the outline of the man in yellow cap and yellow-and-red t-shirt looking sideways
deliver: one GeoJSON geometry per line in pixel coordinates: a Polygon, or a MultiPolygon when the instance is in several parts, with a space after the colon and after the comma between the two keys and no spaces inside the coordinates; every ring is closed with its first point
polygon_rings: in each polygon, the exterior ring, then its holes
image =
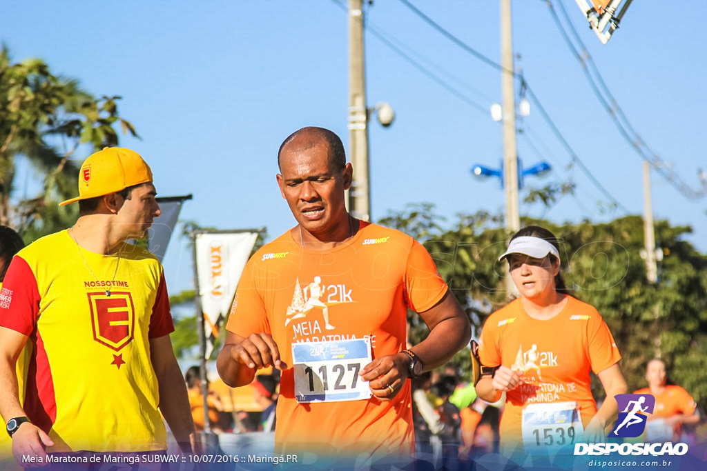
{"type": "Polygon", "coordinates": [[[132,150],[105,148],[83,162],[78,193],[62,203],[78,201],[76,224],[18,252],[0,293],[0,414],[13,454],[43,465],[67,453],[160,453],[158,407],[192,451],[162,266],[125,242],[160,215],[151,169],[132,150]],[[21,404],[13,360],[25,345],[21,404]]]}

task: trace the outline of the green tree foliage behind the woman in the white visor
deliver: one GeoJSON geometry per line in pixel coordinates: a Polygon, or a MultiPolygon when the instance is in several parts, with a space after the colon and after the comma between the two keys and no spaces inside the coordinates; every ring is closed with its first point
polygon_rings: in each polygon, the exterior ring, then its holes
{"type": "MultiPolygon", "coordinates": [[[[510,234],[503,228],[501,215],[460,214],[446,228],[441,221],[431,205],[409,205],[380,222],[423,243],[467,312],[477,337],[486,317],[508,299],[504,280],[508,267],[496,258],[510,234]]],[[[607,321],[624,358],[621,369],[631,390],[645,386],[645,364],[660,356],[672,380],[699,403],[707,404],[703,381],[703,371],[707,371],[707,257],[682,239],[689,227],[656,223],[656,240],[665,258],[659,263],[660,279],[650,284],[641,258],[641,217],[574,225],[525,218],[521,225],[541,225],[559,237],[563,276],[575,296],[595,306],[607,321]]],[[[426,326],[419,316],[409,313],[408,318],[411,341],[419,342],[427,335],[426,326]]],[[[452,366],[467,368],[463,355],[457,355],[452,366]]],[[[603,394],[600,387],[595,393],[603,394]]]]}

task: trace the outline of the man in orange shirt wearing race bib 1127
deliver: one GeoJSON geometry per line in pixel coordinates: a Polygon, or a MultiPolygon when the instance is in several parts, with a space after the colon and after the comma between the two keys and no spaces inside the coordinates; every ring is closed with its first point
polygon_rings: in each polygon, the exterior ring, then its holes
{"type": "Polygon", "coordinates": [[[278,161],[277,182],[298,225],[248,261],[219,374],[235,387],[264,366],[282,371],[280,453],[317,453],[317,464],[359,463],[363,453],[370,463],[407,462],[414,450],[407,380],[467,345],[469,321],[423,246],[346,211],[353,169],[336,134],[300,129],[278,161]],[[408,309],[430,333],[405,350],[408,309]]]}

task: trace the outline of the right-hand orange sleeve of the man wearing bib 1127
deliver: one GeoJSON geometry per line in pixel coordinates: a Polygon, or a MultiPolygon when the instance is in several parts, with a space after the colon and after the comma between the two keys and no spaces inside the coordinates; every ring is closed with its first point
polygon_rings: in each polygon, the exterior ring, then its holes
{"type": "Polygon", "coordinates": [[[432,257],[417,241],[412,242],[405,269],[405,302],[415,312],[431,309],[447,292],[432,257]]]}

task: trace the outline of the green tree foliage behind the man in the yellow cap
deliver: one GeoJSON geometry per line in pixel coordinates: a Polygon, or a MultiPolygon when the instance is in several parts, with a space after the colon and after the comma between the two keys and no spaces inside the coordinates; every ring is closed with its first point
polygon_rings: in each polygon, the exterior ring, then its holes
{"type": "Polygon", "coordinates": [[[117,125],[137,136],[118,115],[119,98],[95,98],[76,80],[55,76],[41,59],[13,63],[7,48],[0,49],[0,224],[16,227],[25,240],[71,224],[77,208],[57,206],[76,194],[78,168],[69,158],[81,145],[88,153],[117,145],[117,125]],[[43,188],[12,207],[20,158],[42,175],[43,188]]]}

